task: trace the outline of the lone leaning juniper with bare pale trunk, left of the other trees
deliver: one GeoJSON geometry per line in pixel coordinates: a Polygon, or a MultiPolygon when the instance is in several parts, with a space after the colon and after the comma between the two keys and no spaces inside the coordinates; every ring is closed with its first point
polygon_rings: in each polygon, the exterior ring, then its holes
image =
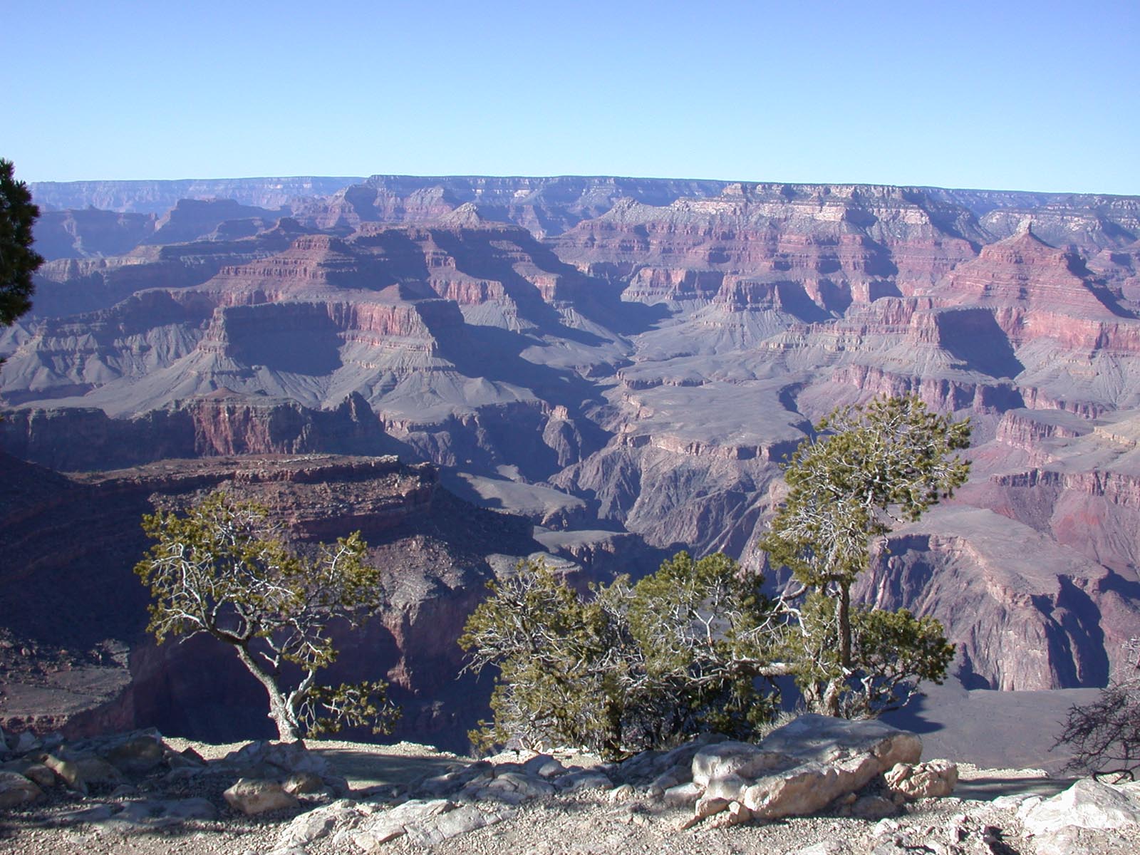
{"type": "Polygon", "coordinates": [[[154,597],[147,629],[160,643],[206,634],[233,645],[264,687],[282,740],[343,725],[391,730],[398,711],[385,683],[317,682],[336,659],[329,625],[352,625],[380,603],[380,571],[367,563],[359,532],[302,556],[266,508],[225,492],[185,516],[146,515],[142,528],[157,543],[135,572],[154,597]]]}

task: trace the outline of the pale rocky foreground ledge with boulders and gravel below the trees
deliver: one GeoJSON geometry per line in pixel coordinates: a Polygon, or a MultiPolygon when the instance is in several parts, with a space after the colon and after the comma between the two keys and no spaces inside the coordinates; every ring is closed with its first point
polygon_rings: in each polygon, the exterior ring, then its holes
{"type": "MultiPolygon", "coordinates": [[[[705,739],[619,764],[178,742],[155,731],[70,743],[0,733],[0,852],[1140,850],[1140,784],[962,798],[954,763],[922,762],[915,734],[880,722],[803,716],[758,744],[705,739]]],[[[971,792],[996,780],[967,773],[971,792]]]]}

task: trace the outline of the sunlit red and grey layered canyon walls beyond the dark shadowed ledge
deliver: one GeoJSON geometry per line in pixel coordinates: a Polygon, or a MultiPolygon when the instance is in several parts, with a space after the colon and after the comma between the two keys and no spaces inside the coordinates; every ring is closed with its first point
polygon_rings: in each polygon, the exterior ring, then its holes
{"type": "Polygon", "coordinates": [[[598,568],[642,543],[762,567],[811,423],[914,392],[974,420],[974,478],[861,595],[939,616],[970,686],[1102,684],[1140,618],[1135,198],[385,176],[287,217],[233,198],[144,238],[188,243],[50,262],[0,341],[6,449],[397,453],[598,568]]]}

